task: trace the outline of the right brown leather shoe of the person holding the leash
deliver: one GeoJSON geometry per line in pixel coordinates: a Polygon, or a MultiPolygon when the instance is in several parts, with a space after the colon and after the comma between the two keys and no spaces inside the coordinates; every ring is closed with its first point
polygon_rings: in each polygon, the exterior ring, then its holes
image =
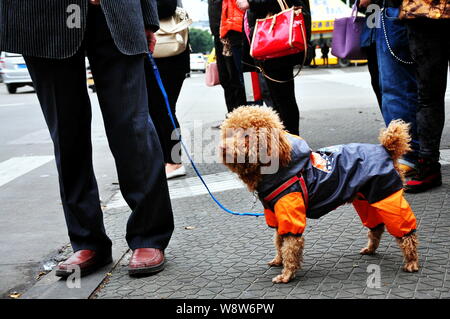
{"type": "Polygon", "coordinates": [[[128,274],[154,274],[164,269],[164,252],[156,248],[138,248],[133,251],[128,265],[128,274]]]}

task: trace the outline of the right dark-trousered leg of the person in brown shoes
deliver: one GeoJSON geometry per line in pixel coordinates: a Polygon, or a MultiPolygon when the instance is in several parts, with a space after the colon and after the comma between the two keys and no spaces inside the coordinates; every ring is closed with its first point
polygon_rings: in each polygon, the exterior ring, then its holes
{"type": "Polygon", "coordinates": [[[148,111],[144,56],[122,54],[101,10],[90,8],[86,44],[120,190],[132,213],[132,250],[164,250],[174,224],[161,145],[148,111]]]}

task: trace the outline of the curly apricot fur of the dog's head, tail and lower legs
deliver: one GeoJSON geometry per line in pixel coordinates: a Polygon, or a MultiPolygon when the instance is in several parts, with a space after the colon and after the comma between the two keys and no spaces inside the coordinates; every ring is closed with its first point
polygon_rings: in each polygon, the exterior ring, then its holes
{"type": "MultiPolygon", "coordinates": [[[[289,164],[291,160],[291,145],[288,142],[284,126],[276,112],[267,107],[242,106],[228,115],[221,125],[220,154],[223,163],[247,185],[250,191],[255,191],[261,181],[261,167],[270,163],[251,161],[258,158],[258,151],[262,148],[270,156],[278,154],[276,160],[281,167],[289,164]],[[245,130],[251,129],[250,134],[245,130]],[[263,147],[261,147],[261,145],[263,147]],[[244,161],[239,162],[239,156],[244,161]]],[[[394,167],[398,169],[398,159],[411,150],[409,142],[409,125],[403,121],[393,121],[388,128],[383,129],[379,135],[380,143],[388,150],[394,167]]],[[[374,254],[380,243],[384,225],[369,230],[369,242],[367,247],[361,250],[361,254],[374,254]]],[[[405,265],[403,269],[408,272],[418,270],[417,235],[415,233],[397,239],[403,252],[405,265]]],[[[275,232],[274,244],[276,248],[275,258],[269,262],[269,266],[283,266],[280,275],[273,278],[275,283],[287,283],[295,277],[303,259],[304,238],[297,236],[280,236],[275,232]]]]}

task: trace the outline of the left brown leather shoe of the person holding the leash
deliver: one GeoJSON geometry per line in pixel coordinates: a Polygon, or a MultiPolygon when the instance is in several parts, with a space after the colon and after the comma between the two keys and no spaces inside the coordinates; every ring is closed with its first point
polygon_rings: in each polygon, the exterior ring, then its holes
{"type": "Polygon", "coordinates": [[[66,278],[74,273],[74,267],[80,267],[81,276],[86,276],[97,269],[112,263],[111,254],[99,254],[94,250],[79,250],[69,259],[58,265],[56,276],[66,278]]]}

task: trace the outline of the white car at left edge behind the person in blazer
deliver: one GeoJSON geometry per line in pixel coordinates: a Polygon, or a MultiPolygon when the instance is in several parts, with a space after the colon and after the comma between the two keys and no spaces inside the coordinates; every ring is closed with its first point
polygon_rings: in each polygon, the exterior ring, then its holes
{"type": "Polygon", "coordinates": [[[16,93],[19,87],[33,86],[25,60],[20,54],[0,53],[0,76],[10,94],[16,93]]]}

